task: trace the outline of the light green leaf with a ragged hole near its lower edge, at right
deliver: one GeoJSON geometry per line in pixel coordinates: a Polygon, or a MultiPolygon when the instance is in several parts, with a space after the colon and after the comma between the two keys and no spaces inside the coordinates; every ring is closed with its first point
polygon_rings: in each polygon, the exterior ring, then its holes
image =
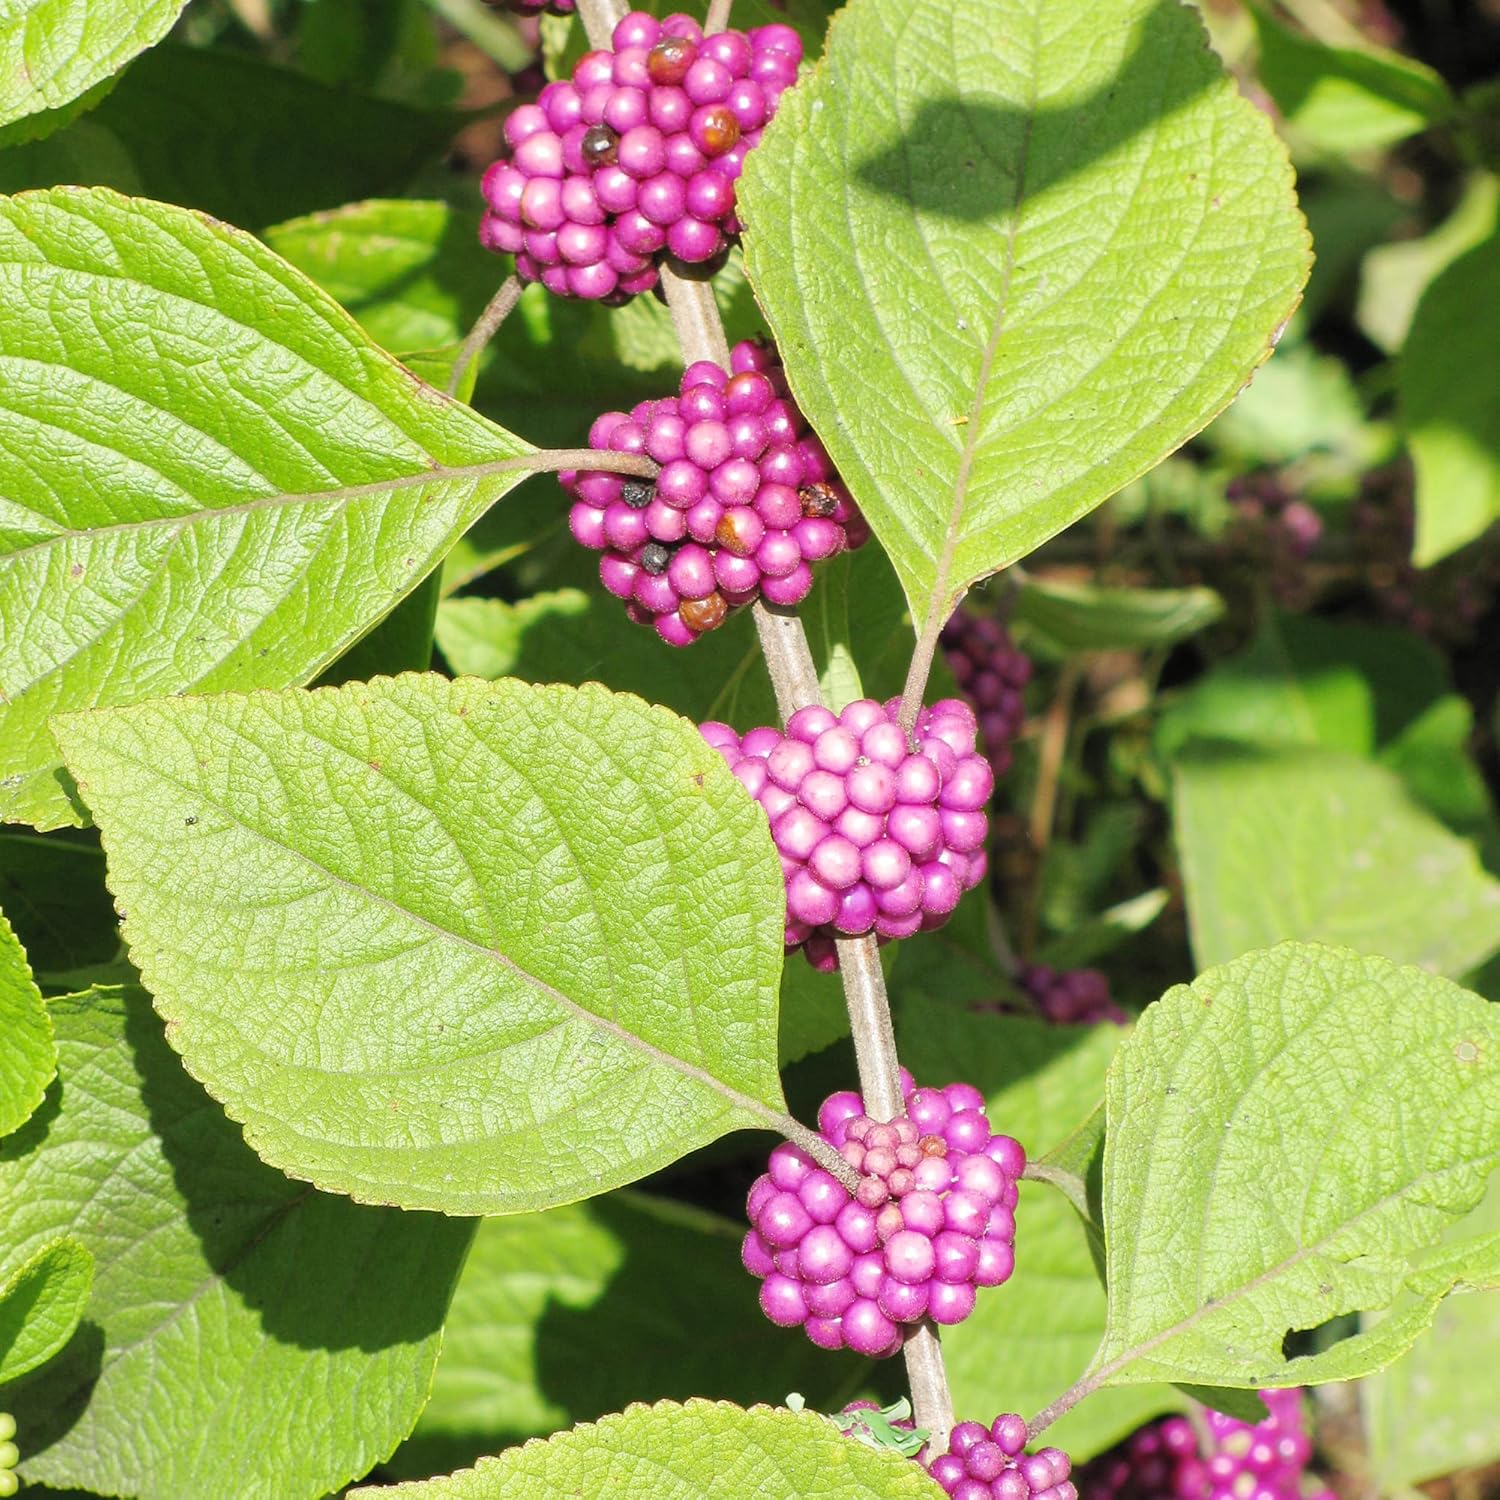
{"type": "Polygon", "coordinates": [[[1419,969],[1304,944],[1210,969],[1148,1008],[1107,1110],[1100,1383],[1368,1374],[1492,1254],[1482,1224],[1424,1254],[1500,1162],[1500,1022],[1419,969]],[[1288,1332],[1402,1293],[1284,1358],[1288,1332]]]}

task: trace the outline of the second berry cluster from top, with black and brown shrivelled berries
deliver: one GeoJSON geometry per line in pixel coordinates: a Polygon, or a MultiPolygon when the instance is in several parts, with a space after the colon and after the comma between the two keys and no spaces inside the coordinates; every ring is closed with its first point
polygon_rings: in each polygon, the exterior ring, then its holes
{"type": "Polygon", "coordinates": [[[662,465],[654,482],[600,470],[558,478],[573,495],[574,538],[604,554],[604,588],[674,646],[754,598],[800,603],[810,564],[870,536],[770,344],[736,344],[728,374],[690,364],[676,396],[606,411],[588,442],[662,465]]]}

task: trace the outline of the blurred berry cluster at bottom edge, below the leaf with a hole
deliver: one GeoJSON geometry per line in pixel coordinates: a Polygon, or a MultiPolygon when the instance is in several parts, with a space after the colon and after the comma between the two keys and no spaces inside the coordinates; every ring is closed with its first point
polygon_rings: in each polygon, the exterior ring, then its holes
{"type": "Polygon", "coordinates": [[[1334,1500],[1304,1488],[1312,1443],[1300,1390],[1262,1390],[1268,1416],[1251,1425],[1204,1410],[1208,1450],[1180,1416],[1152,1422],[1078,1473],[1083,1500],[1334,1500]]]}

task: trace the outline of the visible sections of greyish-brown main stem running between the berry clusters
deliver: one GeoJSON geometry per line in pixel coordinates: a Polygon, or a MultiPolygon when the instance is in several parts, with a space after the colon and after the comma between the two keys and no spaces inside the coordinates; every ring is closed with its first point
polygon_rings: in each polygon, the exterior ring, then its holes
{"type": "MultiPolygon", "coordinates": [[[[608,46],[615,22],[624,14],[621,0],[578,0],[578,10],[590,45],[608,46]]],[[[724,338],[712,286],[705,280],[690,280],[666,266],[662,267],[662,286],[682,358],[688,363],[714,360],[728,369],[729,340],[724,338]]],[[[807,646],[807,633],[796,615],[758,603],[754,622],[783,718],[807,704],[819,702],[818,670],[807,646]]],[[[936,642],[936,630],[933,640],[936,642]]],[[[837,946],[860,1068],[860,1090],[872,1114],[891,1119],[902,1112],[902,1086],[891,1005],[885,994],[885,974],[874,936],[840,939],[837,946]]],[[[952,1396],[948,1394],[938,1329],[924,1322],[908,1335],[903,1353],[916,1425],[932,1432],[934,1452],[942,1450],[948,1446],[952,1428],[952,1396]]]]}

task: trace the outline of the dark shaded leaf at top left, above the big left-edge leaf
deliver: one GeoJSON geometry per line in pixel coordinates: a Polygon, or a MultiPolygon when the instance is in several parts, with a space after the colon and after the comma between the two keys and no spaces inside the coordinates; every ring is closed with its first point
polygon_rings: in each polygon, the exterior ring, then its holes
{"type": "Polygon", "coordinates": [[[261,228],[400,190],[464,123],[452,110],[330,88],[246,52],[166,45],[45,148],[0,158],[0,188],[128,186],[108,158],[90,176],[58,176],[69,138],[87,128],[117,142],[130,190],[261,228]]]}

